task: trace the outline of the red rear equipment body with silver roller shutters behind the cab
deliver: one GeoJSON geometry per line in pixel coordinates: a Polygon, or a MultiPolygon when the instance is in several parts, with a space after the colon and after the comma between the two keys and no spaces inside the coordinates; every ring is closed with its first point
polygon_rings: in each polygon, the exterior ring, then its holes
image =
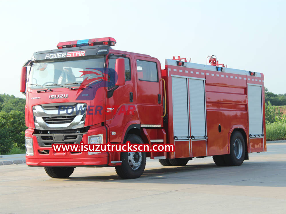
{"type": "Polygon", "coordinates": [[[170,158],[229,154],[234,129],[245,132],[249,153],[266,151],[263,74],[217,71],[216,66],[189,62],[178,66],[176,60],[165,63],[168,124],[164,127],[169,143],[184,148],[170,158]]]}

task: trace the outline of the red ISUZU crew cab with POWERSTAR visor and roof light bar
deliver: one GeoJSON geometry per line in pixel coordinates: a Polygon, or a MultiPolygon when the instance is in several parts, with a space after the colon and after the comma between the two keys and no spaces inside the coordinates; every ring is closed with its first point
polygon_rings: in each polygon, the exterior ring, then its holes
{"type": "Polygon", "coordinates": [[[120,168],[120,153],[53,152],[51,144],[122,144],[142,128],[163,127],[159,60],[114,50],[115,43],[110,37],[63,42],[25,63],[20,91],[26,94],[27,165],[45,167],[51,177],[79,166],[120,168]]]}

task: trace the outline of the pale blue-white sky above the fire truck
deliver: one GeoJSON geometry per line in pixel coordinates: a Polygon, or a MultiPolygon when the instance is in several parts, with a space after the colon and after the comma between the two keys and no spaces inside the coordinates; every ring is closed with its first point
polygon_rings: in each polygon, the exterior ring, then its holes
{"type": "Polygon", "coordinates": [[[285,94],[286,1],[0,0],[0,94],[19,92],[23,64],[59,42],[113,37],[117,50],[160,60],[180,55],[206,64],[261,72],[285,94]],[[5,66],[4,66],[5,65],[5,66]]]}

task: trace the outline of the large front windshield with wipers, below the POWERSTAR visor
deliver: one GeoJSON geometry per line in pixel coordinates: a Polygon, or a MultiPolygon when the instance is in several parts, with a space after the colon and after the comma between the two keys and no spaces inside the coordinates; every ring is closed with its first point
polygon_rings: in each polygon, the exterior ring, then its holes
{"type": "Polygon", "coordinates": [[[104,56],[79,58],[78,60],[45,60],[33,62],[29,74],[28,86],[59,87],[81,84],[86,78],[96,79],[93,84],[102,80],[104,56]]]}

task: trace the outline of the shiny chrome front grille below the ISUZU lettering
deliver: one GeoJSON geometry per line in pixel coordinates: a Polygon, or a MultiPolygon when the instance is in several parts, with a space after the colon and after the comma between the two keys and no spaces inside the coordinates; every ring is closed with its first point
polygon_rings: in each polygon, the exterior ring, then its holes
{"type": "Polygon", "coordinates": [[[39,130],[69,130],[84,127],[86,104],[50,103],[33,107],[35,128],[39,130]]]}

